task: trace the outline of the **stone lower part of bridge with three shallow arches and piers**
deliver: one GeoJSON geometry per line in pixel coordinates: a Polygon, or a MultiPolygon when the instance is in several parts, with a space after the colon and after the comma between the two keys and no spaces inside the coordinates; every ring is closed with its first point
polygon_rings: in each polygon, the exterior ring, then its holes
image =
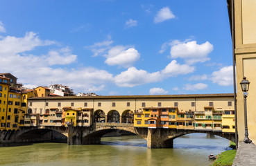
{"type": "Polygon", "coordinates": [[[4,142],[33,142],[67,139],[68,145],[101,144],[101,137],[112,131],[129,131],[141,136],[147,141],[148,148],[172,148],[173,139],[187,133],[210,133],[211,136],[221,136],[234,142],[234,133],[222,131],[194,130],[194,129],[148,129],[134,127],[133,124],[97,122],[91,127],[23,127],[17,131],[0,131],[0,143],[4,142]]]}

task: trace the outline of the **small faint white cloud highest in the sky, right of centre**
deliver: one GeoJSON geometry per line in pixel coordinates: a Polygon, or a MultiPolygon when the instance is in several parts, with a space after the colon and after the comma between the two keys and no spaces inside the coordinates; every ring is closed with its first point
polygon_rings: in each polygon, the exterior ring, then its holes
{"type": "Polygon", "coordinates": [[[154,18],[154,23],[160,23],[162,21],[174,18],[175,15],[173,15],[173,12],[171,12],[171,10],[168,7],[164,7],[157,12],[157,15],[154,18]]]}

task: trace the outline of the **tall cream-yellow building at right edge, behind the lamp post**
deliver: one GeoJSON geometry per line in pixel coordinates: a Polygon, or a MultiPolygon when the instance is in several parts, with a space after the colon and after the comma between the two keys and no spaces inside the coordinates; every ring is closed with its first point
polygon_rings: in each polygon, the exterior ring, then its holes
{"type": "Polygon", "coordinates": [[[247,120],[250,140],[256,143],[256,1],[255,0],[234,0],[228,1],[230,14],[230,25],[232,43],[234,49],[234,64],[237,75],[237,131],[239,141],[245,138],[244,123],[244,95],[241,91],[240,82],[246,77],[250,82],[247,98],[247,120]],[[232,12],[232,9],[233,12],[232,12]],[[232,15],[234,13],[234,15],[232,15]]]}

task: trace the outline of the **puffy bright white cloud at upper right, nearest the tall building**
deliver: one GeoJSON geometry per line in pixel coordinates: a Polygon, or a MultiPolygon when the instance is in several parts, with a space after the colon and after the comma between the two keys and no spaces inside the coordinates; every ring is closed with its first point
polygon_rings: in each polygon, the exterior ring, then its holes
{"type": "Polygon", "coordinates": [[[185,59],[187,64],[194,64],[196,62],[205,62],[210,60],[208,54],[213,50],[213,45],[210,42],[204,44],[196,44],[196,41],[187,43],[179,43],[171,47],[171,58],[185,59]]]}

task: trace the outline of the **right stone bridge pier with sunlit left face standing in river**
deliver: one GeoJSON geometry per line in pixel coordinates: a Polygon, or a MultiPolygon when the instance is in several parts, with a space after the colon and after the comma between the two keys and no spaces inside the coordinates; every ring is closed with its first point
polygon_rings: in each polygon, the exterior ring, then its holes
{"type": "Polygon", "coordinates": [[[147,147],[150,149],[173,148],[173,139],[168,138],[167,129],[148,129],[147,147]]]}

